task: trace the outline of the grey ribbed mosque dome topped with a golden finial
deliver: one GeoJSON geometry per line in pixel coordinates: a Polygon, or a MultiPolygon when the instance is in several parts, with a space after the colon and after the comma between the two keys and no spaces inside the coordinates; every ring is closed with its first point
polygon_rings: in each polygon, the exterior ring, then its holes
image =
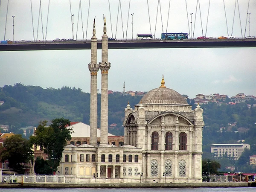
{"type": "Polygon", "coordinates": [[[161,86],[148,91],[140,100],[140,103],[143,105],[188,105],[186,99],[180,93],[167,88],[164,84],[164,79],[162,79],[161,86]]]}

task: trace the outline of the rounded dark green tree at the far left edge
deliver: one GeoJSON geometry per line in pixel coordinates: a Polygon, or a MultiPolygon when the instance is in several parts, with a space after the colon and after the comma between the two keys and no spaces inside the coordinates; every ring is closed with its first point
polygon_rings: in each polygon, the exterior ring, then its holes
{"type": "Polygon", "coordinates": [[[0,156],[2,162],[9,161],[9,167],[18,173],[23,173],[24,163],[28,163],[32,157],[32,145],[29,140],[21,135],[13,135],[3,142],[3,151],[0,156]]]}

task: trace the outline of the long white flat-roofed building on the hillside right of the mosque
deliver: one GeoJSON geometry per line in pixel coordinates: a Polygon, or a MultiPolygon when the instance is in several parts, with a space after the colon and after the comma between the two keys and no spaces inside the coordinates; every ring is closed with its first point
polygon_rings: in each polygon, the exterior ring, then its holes
{"type": "Polygon", "coordinates": [[[214,153],[216,157],[234,157],[234,160],[238,160],[245,148],[250,149],[249,144],[212,144],[211,153],[214,153]]]}

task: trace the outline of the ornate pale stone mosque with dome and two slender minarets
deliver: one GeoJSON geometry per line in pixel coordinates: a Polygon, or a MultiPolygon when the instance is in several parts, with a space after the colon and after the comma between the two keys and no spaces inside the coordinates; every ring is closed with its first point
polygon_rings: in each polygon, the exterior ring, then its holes
{"type": "Polygon", "coordinates": [[[108,144],[108,35],[102,35],[97,63],[95,20],[91,38],[90,143],[64,147],[58,171],[78,183],[202,182],[203,109],[195,110],[175,90],[148,91],[134,108],[124,109],[124,145],[108,144]],[[101,70],[100,143],[97,143],[97,73],[101,70]]]}

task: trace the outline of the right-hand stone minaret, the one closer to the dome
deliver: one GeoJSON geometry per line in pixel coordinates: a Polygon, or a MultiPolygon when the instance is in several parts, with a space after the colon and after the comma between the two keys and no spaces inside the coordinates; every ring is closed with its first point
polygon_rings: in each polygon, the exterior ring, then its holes
{"type": "Polygon", "coordinates": [[[104,27],[102,35],[102,62],[99,68],[102,72],[101,81],[101,117],[100,117],[100,144],[108,144],[108,35],[106,27],[106,17],[104,17],[104,27]]]}

